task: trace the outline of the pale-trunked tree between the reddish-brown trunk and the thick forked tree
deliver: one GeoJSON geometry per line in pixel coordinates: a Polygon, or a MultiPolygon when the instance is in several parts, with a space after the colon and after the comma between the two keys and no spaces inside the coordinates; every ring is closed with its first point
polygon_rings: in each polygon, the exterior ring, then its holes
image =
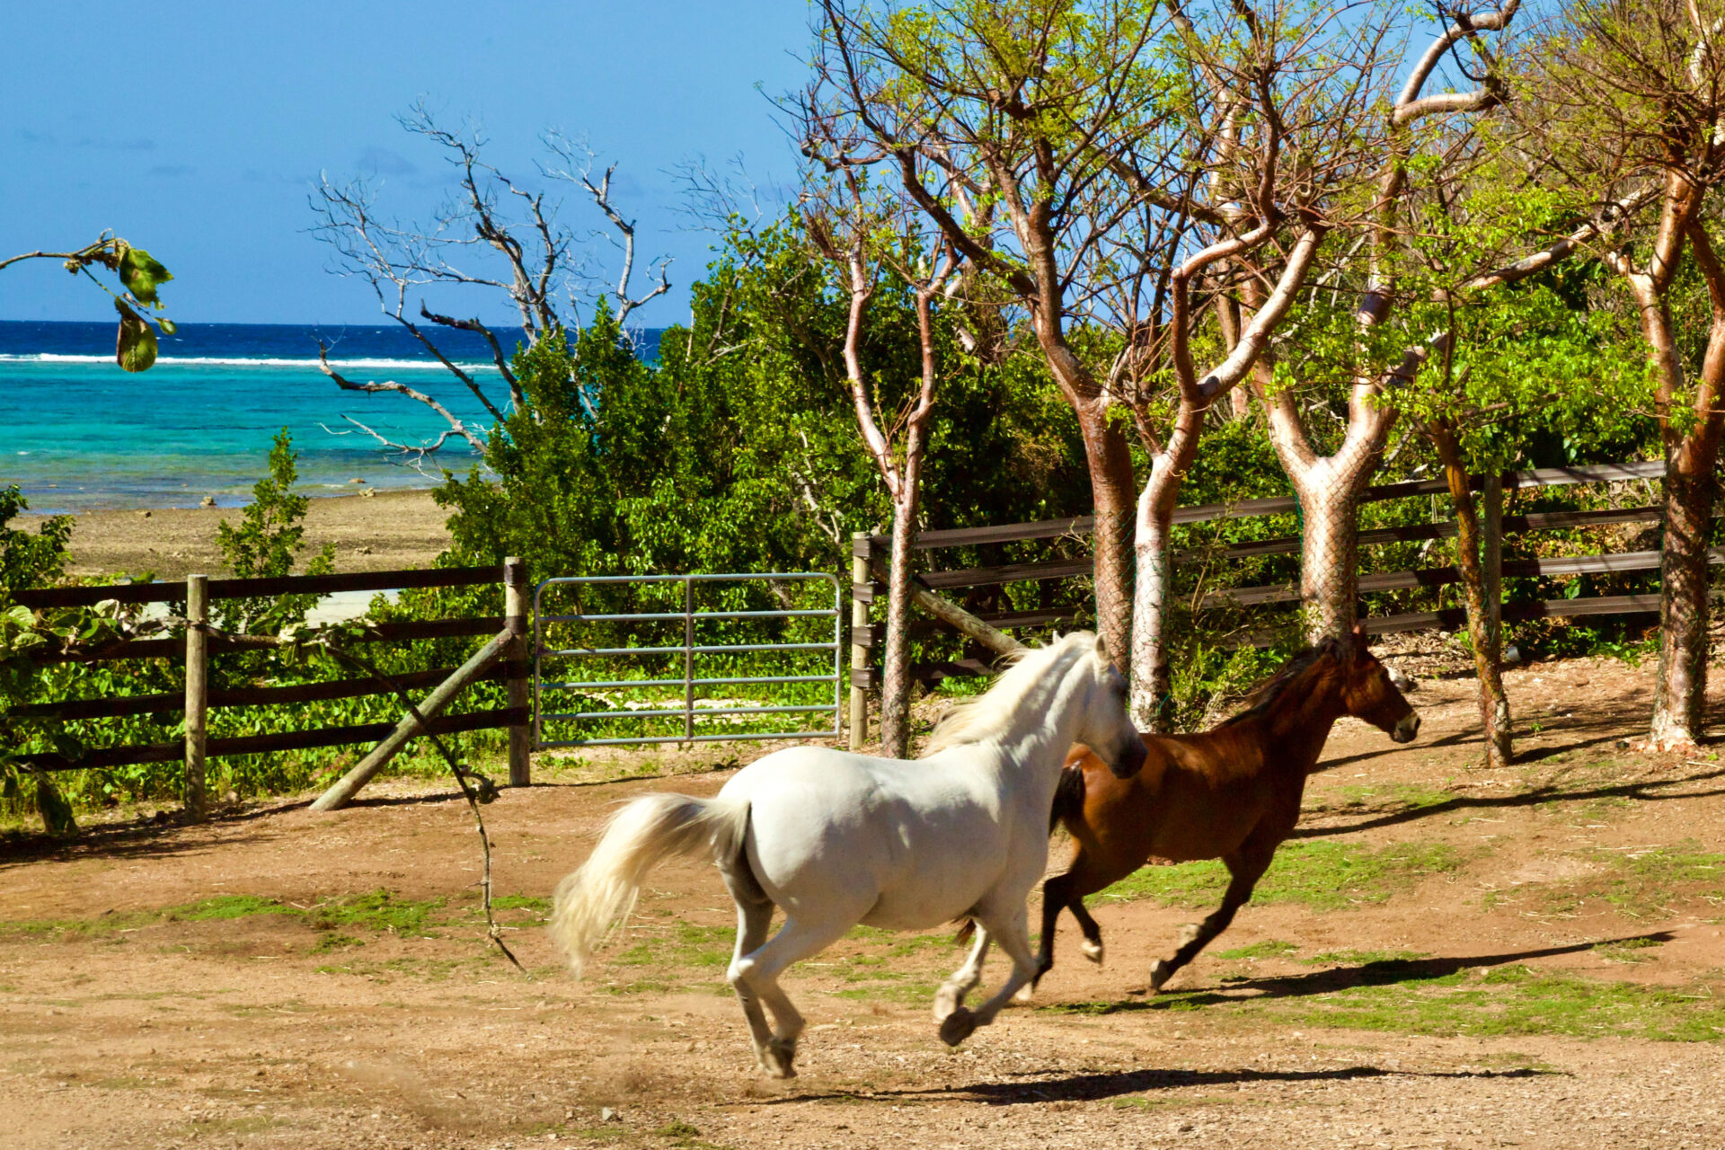
{"type": "Polygon", "coordinates": [[[1133,721],[1151,729],[1164,724],[1170,688],[1182,481],[1206,419],[1259,366],[1325,238],[1358,212],[1373,148],[1356,124],[1383,79],[1383,26],[1371,21],[1313,21],[1280,3],[1237,3],[1216,26],[1201,28],[1187,9],[1171,10],[1192,95],[1163,155],[1180,162],[1147,167],[1133,152],[1113,155],[1123,184],[1116,195],[1137,203],[1140,217],[1097,245],[1102,259],[1090,279],[1106,302],[1099,322],[1123,324],[1111,384],[1132,407],[1151,457],[1137,505],[1132,643],[1133,721]],[[1113,291],[1107,267],[1128,269],[1113,291]],[[1242,269],[1249,278],[1239,283],[1242,269]],[[1230,293],[1240,288],[1256,305],[1251,316],[1233,305],[1230,293]],[[1209,312],[1226,352],[1201,372],[1194,336],[1209,312]],[[1164,398],[1157,381],[1170,376],[1173,397],[1164,398]]]}

